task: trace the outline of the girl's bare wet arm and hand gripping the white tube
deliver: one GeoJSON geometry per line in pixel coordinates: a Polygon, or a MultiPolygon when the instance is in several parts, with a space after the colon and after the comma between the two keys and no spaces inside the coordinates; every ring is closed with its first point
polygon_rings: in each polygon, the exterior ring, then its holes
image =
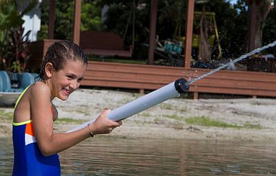
{"type": "MultiPolygon", "coordinates": [[[[50,110],[50,88],[43,84],[34,84],[30,98],[30,116],[34,136],[41,153],[45,156],[53,155],[74,146],[90,137],[88,127],[72,133],[54,133],[50,110]]],[[[103,111],[99,118],[90,125],[92,133],[110,133],[112,129],[121,125],[121,122],[112,122],[106,118],[109,111],[103,111]]]]}

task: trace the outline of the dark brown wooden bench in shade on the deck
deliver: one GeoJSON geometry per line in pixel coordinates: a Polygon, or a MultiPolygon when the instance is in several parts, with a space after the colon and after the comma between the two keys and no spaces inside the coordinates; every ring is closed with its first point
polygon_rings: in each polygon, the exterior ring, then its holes
{"type": "Polygon", "coordinates": [[[132,45],[125,50],[124,40],[111,32],[83,31],[79,46],[86,54],[98,56],[131,57],[133,52],[132,45]]]}

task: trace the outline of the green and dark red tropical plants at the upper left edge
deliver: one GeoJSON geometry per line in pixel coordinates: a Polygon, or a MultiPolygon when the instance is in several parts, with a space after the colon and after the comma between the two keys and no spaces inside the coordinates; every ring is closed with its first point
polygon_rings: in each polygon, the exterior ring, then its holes
{"type": "MultiPolygon", "coordinates": [[[[30,32],[27,32],[26,35],[23,36],[23,28],[21,28],[21,26],[24,21],[22,17],[24,14],[30,12],[35,5],[37,5],[37,1],[1,1],[0,4],[0,69],[12,69],[15,63],[22,63],[19,61],[14,63],[14,61],[19,59],[17,56],[24,56],[27,54],[26,45],[28,45],[28,42],[26,40],[28,40],[27,36],[30,32]],[[18,6],[23,3],[26,3],[27,6],[19,12],[17,10],[18,6]],[[24,39],[15,39],[16,37],[24,37],[24,39]],[[14,50],[14,47],[18,50],[14,50]],[[23,53],[11,54],[12,52],[23,53]]],[[[23,60],[26,60],[28,57],[24,56],[24,58],[25,59],[23,60]]],[[[14,69],[14,71],[21,72],[25,69],[25,67],[26,63],[23,63],[23,65],[19,67],[20,69],[14,69]]]]}

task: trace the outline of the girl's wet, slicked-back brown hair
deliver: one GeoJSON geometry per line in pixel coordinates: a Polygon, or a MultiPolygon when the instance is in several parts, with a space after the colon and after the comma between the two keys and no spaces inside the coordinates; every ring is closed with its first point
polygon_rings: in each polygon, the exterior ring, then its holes
{"type": "Polygon", "coordinates": [[[36,80],[48,79],[45,72],[46,63],[52,63],[55,71],[59,71],[63,69],[66,61],[81,61],[83,64],[88,65],[86,55],[81,50],[81,47],[72,43],[72,41],[57,41],[48,48],[36,80]]]}

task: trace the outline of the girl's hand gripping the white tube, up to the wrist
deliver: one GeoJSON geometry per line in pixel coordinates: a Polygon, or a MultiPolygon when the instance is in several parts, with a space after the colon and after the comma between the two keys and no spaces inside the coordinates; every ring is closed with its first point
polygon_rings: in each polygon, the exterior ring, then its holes
{"type": "Polygon", "coordinates": [[[113,129],[117,126],[121,126],[121,120],[117,122],[113,122],[107,118],[108,113],[110,113],[110,109],[104,110],[99,117],[95,120],[94,123],[90,124],[90,129],[94,135],[97,134],[108,134],[111,133],[113,129]]]}

